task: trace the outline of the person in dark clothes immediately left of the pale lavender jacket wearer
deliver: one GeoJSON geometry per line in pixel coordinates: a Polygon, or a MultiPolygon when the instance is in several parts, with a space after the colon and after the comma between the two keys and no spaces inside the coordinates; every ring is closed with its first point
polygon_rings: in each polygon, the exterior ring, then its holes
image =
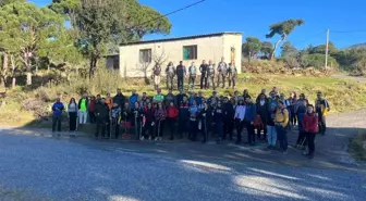
{"type": "Polygon", "coordinates": [[[224,111],[224,123],[223,123],[223,140],[227,138],[227,134],[229,134],[229,139],[232,140],[233,128],[234,128],[234,115],[235,110],[233,105],[233,101],[229,101],[228,98],[223,99],[223,111],[224,111]]]}

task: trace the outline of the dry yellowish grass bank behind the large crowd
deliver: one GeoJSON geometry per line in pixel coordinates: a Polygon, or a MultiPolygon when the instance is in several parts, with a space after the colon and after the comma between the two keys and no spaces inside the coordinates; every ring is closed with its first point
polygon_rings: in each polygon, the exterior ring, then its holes
{"type": "MultiPolygon", "coordinates": [[[[167,93],[164,80],[161,84],[162,93],[167,93]]],[[[185,86],[187,86],[187,80],[185,80],[185,86]]],[[[353,80],[272,74],[241,74],[236,80],[237,90],[242,92],[244,89],[248,89],[254,98],[263,88],[269,91],[273,86],[277,86],[286,97],[291,91],[296,91],[297,95],[303,92],[310,103],[314,103],[316,91],[321,90],[330,102],[332,113],[366,108],[366,86],[353,80]]],[[[118,72],[102,70],[97,72],[91,80],[77,78],[72,81],[61,81],[58,85],[48,84],[37,89],[17,87],[14,90],[9,90],[7,98],[0,99],[0,125],[23,126],[36,121],[34,112],[27,110],[29,105],[24,105],[25,100],[28,99],[40,100],[44,111],[37,111],[37,114],[42,114],[45,111],[50,113],[52,101],[58,95],[61,95],[62,101],[68,103],[71,97],[78,99],[84,92],[105,96],[110,91],[113,95],[117,88],[121,88],[125,96],[130,96],[132,89],[136,89],[139,93],[145,91],[150,96],[156,93],[152,85],[146,85],[143,78],[124,79],[119,76],[118,72]]],[[[198,91],[198,86],[196,86],[196,91],[198,91]]],[[[208,97],[212,90],[204,90],[203,92],[208,97]]],[[[218,89],[218,92],[219,95],[233,95],[234,90],[218,89]]]]}

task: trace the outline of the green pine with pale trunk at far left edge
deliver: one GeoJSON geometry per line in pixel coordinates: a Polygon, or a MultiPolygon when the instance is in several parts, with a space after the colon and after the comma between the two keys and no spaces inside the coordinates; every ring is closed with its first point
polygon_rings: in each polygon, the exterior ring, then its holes
{"type": "Polygon", "coordinates": [[[20,56],[32,85],[34,59],[47,40],[57,38],[62,18],[47,8],[14,2],[0,10],[0,42],[3,49],[20,56]]]}

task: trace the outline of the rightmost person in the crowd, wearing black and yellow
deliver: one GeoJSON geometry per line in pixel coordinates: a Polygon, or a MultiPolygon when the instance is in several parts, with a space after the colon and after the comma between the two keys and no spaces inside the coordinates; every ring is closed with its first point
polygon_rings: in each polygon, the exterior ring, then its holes
{"type": "Polygon", "coordinates": [[[318,113],[319,131],[321,135],[326,135],[326,130],[327,130],[326,117],[329,111],[330,111],[330,106],[329,106],[327,99],[322,98],[321,91],[318,91],[317,99],[315,100],[315,112],[318,113]]]}

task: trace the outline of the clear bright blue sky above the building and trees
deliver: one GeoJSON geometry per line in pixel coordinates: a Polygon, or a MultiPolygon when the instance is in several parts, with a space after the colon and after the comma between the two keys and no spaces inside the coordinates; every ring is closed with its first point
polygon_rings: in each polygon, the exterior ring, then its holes
{"type": "MultiPolygon", "coordinates": [[[[138,0],[162,14],[199,0],[138,0]]],[[[51,0],[32,0],[42,7],[51,0]]],[[[365,0],[205,0],[204,2],[169,15],[170,35],[149,35],[144,40],[192,35],[240,32],[246,37],[267,39],[270,24],[289,18],[303,18],[288,41],[298,49],[326,42],[329,28],[330,41],[338,48],[366,42],[365,0]]]]}

